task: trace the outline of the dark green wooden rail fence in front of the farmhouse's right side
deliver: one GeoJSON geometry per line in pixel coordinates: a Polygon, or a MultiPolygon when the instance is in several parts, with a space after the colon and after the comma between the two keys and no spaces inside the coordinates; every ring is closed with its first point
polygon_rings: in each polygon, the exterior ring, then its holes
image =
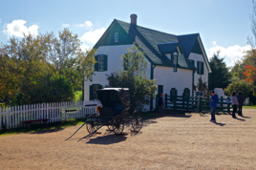
{"type": "MultiPolygon", "coordinates": [[[[189,112],[210,112],[209,97],[202,96],[164,96],[165,108],[171,108],[174,111],[189,112]]],[[[230,98],[220,97],[215,112],[230,113],[230,98]]]]}

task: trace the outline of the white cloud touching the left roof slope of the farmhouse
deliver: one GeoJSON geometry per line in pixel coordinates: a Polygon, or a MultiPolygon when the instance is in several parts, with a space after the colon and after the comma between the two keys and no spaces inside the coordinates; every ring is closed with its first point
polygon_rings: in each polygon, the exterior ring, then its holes
{"type": "Polygon", "coordinates": [[[101,35],[106,31],[105,28],[91,30],[89,32],[85,32],[80,40],[82,41],[84,46],[92,47],[96,44],[96,41],[101,37],[101,35]]]}

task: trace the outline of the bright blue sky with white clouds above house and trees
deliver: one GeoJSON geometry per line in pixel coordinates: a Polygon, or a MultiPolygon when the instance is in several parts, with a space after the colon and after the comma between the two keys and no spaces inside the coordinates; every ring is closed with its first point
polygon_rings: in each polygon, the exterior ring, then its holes
{"type": "Polygon", "coordinates": [[[78,34],[83,49],[93,47],[116,18],[160,32],[199,32],[210,58],[217,50],[227,66],[241,59],[248,49],[252,13],[251,0],[19,0],[0,1],[0,43],[10,36],[62,31],[78,34]]]}

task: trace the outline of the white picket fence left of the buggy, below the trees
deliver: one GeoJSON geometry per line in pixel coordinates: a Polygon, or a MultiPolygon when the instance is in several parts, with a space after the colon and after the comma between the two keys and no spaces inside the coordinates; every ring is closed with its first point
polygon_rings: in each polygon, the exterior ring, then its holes
{"type": "Polygon", "coordinates": [[[23,106],[0,107],[0,130],[25,126],[22,121],[49,118],[49,122],[67,121],[96,114],[99,100],[56,102],[23,106]]]}

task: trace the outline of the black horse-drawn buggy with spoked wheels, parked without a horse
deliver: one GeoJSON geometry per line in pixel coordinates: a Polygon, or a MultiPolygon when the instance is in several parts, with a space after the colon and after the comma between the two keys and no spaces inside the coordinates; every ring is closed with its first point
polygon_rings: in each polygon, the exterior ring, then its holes
{"type": "Polygon", "coordinates": [[[130,92],[128,88],[104,88],[97,90],[96,95],[102,107],[97,106],[97,114],[90,115],[75,133],[86,124],[89,134],[83,138],[95,134],[102,126],[107,126],[109,131],[113,131],[118,136],[122,134],[126,121],[131,122],[133,132],[139,132],[143,125],[143,118],[138,110],[132,114],[129,113],[130,92]]]}

